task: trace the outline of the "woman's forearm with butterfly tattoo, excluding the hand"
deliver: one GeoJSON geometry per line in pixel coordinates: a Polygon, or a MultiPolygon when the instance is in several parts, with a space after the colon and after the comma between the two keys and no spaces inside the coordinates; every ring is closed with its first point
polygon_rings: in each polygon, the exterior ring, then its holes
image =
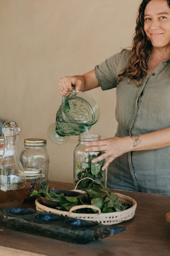
{"type": "Polygon", "coordinates": [[[168,147],[170,146],[170,127],[151,133],[124,138],[126,140],[127,152],[168,147]]]}

